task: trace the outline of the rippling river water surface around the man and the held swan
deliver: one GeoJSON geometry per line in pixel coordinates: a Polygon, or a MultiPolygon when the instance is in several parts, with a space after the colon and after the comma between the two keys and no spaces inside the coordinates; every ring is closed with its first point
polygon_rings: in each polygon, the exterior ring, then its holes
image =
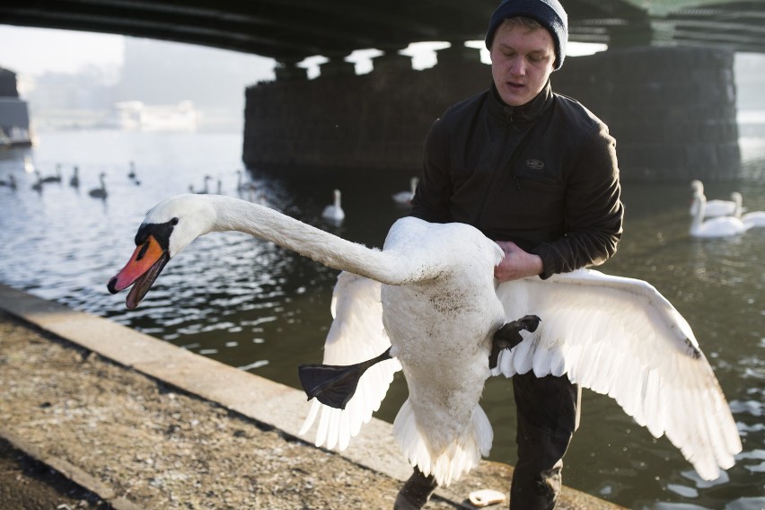
{"type": "MultiPolygon", "coordinates": [[[[48,133],[33,150],[0,153],[0,180],[13,173],[15,191],[0,188],[0,281],[165,339],[203,356],[299,388],[296,366],[321,360],[337,271],[242,233],[194,242],[165,268],[135,311],[106,282],[127,262],[145,212],[159,200],[198,187],[237,194],[241,136],[221,134],[48,133]],[[31,189],[34,176],[57,163],[64,179],[31,189]],[[136,163],[140,185],[128,179],[136,163]],[[79,189],[68,184],[79,166],[79,189]],[[91,198],[106,173],[109,198],[91,198]]],[[[745,179],[706,183],[709,198],[743,194],[744,207],[765,210],[765,136],[742,140],[745,179]]],[[[354,242],[382,246],[405,210],[391,194],[408,174],[380,171],[338,176],[255,173],[258,197],[288,215],[354,242]],[[343,192],[347,219],[321,220],[332,189],[343,192]]],[[[715,482],[699,480],[664,438],[654,439],[612,400],[585,391],[582,426],[567,453],[565,482],[629,508],[761,508],[765,506],[765,229],[734,239],[688,235],[686,184],[625,185],[627,219],[620,251],[602,269],[645,279],[690,322],[730,400],[744,452],[715,482]]],[[[391,421],[406,398],[399,377],[378,417],[391,421]]],[[[515,462],[514,407],[506,380],[487,384],[482,406],[495,427],[491,458],[515,462]]],[[[352,447],[352,446],[351,446],[352,447]]]]}

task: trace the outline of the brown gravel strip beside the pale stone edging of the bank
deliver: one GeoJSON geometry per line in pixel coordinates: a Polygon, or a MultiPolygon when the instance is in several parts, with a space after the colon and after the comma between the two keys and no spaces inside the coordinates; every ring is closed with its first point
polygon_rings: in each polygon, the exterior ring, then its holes
{"type": "MultiPolygon", "coordinates": [[[[400,488],[2,313],[0,387],[6,431],[140,508],[392,508],[400,488]]],[[[7,443],[0,453],[3,508],[110,507],[7,443]]]]}

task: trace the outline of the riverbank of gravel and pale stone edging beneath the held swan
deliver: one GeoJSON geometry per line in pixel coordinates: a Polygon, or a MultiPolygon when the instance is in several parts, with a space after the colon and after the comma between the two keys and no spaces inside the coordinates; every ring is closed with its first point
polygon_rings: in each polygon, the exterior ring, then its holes
{"type": "MultiPolygon", "coordinates": [[[[389,424],[341,454],[316,448],[297,435],[302,391],[7,286],[0,366],[0,436],[86,489],[81,507],[385,509],[409,476],[389,424]]],[[[483,462],[426,508],[470,508],[470,491],[506,491],[511,473],[483,462]]],[[[567,488],[559,508],[615,506],[567,488]]]]}

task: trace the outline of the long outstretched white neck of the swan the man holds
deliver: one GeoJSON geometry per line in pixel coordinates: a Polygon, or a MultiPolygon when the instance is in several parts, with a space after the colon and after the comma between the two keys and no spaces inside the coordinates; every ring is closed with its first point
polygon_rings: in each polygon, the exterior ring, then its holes
{"type": "Polygon", "coordinates": [[[346,241],[246,200],[221,196],[207,198],[215,204],[213,231],[250,233],[330,268],[370,277],[383,284],[401,285],[410,281],[411,275],[401,274],[399,259],[393,254],[346,241]]]}

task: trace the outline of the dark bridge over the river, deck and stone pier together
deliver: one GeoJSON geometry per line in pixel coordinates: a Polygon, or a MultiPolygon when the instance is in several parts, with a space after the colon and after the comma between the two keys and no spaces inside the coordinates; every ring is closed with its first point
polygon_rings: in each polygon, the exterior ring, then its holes
{"type": "MultiPolygon", "coordinates": [[[[277,82],[248,89],[243,160],[252,168],[418,171],[444,109],[489,84],[466,40],[497,0],[5,0],[0,23],[173,40],[273,57],[277,82]],[[400,49],[444,40],[414,71],[400,49]],[[345,61],[377,48],[374,71],[345,61]],[[295,67],[321,55],[321,77],[295,67]]],[[[571,41],[608,51],[567,58],[553,88],[580,99],[618,141],[627,180],[734,179],[741,163],[735,51],[765,53],[761,0],[563,0],[571,41]]]]}

